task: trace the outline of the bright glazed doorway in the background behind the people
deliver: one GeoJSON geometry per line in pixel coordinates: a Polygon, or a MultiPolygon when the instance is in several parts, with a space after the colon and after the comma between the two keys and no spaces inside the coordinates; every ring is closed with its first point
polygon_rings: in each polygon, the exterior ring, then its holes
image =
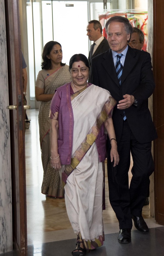
{"type": "MultiPolygon", "coordinates": [[[[48,41],[57,41],[62,45],[63,62],[69,65],[69,59],[75,53],[88,56],[91,42],[86,36],[87,22],[99,19],[104,13],[103,1],[42,1],[28,0],[28,66],[31,108],[39,108],[35,101],[35,81],[41,70],[42,50],[48,41]]],[[[107,1],[110,10],[110,1],[107,1]]]]}

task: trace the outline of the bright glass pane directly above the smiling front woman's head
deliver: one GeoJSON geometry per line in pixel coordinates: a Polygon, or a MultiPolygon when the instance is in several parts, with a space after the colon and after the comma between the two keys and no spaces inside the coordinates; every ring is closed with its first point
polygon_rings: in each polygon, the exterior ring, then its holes
{"type": "Polygon", "coordinates": [[[76,53],[88,57],[87,1],[53,1],[54,41],[60,42],[63,50],[63,62],[76,53]]]}

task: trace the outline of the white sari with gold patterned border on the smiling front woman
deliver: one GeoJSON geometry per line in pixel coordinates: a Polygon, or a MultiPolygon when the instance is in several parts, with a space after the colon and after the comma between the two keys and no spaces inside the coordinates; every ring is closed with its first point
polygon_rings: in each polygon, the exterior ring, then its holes
{"type": "Polygon", "coordinates": [[[95,140],[99,129],[115,106],[110,93],[91,85],[71,95],[74,116],[70,165],[62,165],[60,175],[68,175],[65,202],[69,220],[86,249],[103,244],[103,170],[95,140]]]}

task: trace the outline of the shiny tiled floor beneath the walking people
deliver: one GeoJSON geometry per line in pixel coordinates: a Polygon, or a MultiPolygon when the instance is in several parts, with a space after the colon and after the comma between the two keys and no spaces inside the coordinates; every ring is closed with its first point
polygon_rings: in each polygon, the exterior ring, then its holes
{"type": "MultiPolygon", "coordinates": [[[[38,111],[27,111],[27,115],[31,119],[30,128],[25,134],[28,256],[69,256],[75,249],[76,235],[69,223],[65,200],[41,194],[43,169],[39,146],[38,111]]],[[[143,217],[150,228],[149,234],[142,234],[133,227],[131,243],[118,243],[118,220],[109,203],[106,177],[106,210],[103,211],[105,241],[103,246],[90,251],[88,255],[163,256],[164,227],[157,225],[149,214],[149,205],[144,206],[143,217]]],[[[1,255],[16,254],[10,252],[1,255]]]]}

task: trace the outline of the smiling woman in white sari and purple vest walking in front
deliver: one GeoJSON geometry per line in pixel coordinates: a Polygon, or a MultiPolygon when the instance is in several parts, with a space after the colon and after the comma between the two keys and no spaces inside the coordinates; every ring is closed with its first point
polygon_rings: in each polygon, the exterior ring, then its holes
{"type": "Polygon", "coordinates": [[[87,83],[89,63],[83,54],[69,62],[71,83],[58,88],[51,101],[51,166],[60,171],[69,220],[77,234],[72,255],[103,244],[103,161],[106,158],[104,126],[111,141],[111,161],[119,162],[110,93],[87,83]]]}

